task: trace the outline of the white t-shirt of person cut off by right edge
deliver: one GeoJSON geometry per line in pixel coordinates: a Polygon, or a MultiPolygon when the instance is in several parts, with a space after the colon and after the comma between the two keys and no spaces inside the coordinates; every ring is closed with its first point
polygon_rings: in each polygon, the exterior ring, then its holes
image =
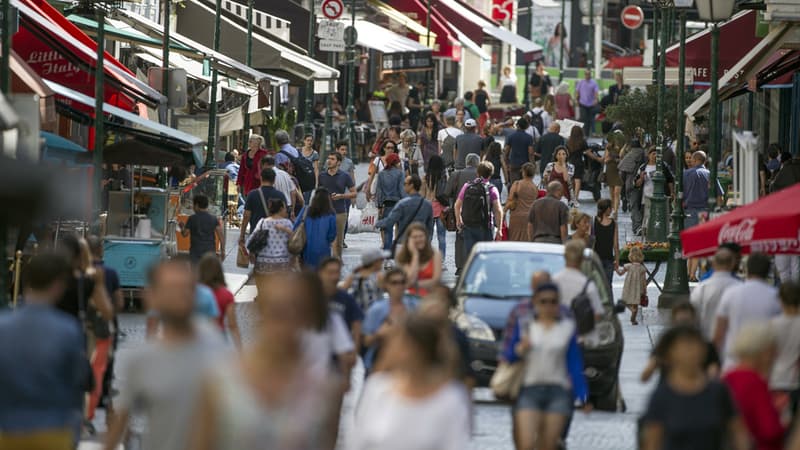
{"type": "Polygon", "coordinates": [[[778,356],[772,365],[769,387],[795,390],[800,385],[800,316],[781,314],[770,325],[778,338],[778,356]]]}

